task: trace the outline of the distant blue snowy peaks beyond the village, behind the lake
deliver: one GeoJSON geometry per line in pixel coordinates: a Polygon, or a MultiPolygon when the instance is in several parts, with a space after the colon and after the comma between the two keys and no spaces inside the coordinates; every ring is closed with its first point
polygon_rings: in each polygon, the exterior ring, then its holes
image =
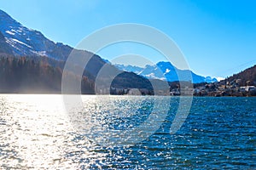
{"type": "Polygon", "coordinates": [[[167,80],[168,82],[177,81],[193,81],[194,83],[200,82],[218,82],[216,78],[201,77],[196,75],[193,71],[177,69],[172,63],[160,61],[156,65],[145,65],[145,67],[138,67],[133,65],[115,65],[121,71],[131,71],[140,76],[150,79],[167,80]],[[191,74],[192,80],[189,80],[191,74]],[[180,76],[180,78],[177,77],[180,76]]]}

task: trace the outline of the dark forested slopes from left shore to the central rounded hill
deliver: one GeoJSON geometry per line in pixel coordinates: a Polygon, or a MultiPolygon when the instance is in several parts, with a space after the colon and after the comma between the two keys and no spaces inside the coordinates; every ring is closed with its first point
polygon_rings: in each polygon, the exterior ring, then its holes
{"type": "MultiPolygon", "coordinates": [[[[64,61],[49,59],[47,57],[15,57],[14,55],[3,54],[0,57],[0,93],[61,94],[61,78],[64,65],[64,61]]],[[[92,63],[90,65],[94,64],[92,63]]],[[[113,72],[117,71],[113,68],[113,72]]],[[[97,70],[100,70],[100,66],[98,66],[97,70]]],[[[72,72],[67,72],[66,74],[73,81],[79,82],[81,78],[72,72]]],[[[104,80],[110,78],[108,72],[105,74],[106,76],[101,80],[102,87],[109,88],[104,87],[104,80]]],[[[96,77],[86,69],[83,75],[81,94],[95,94],[96,77]]],[[[148,89],[148,93],[150,91],[152,94],[152,86],[148,79],[131,72],[120,71],[120,74],[114,77],[111,88],[148,89]]],[[[71,93],[73,94],[72,90],[71,93]]]]}

